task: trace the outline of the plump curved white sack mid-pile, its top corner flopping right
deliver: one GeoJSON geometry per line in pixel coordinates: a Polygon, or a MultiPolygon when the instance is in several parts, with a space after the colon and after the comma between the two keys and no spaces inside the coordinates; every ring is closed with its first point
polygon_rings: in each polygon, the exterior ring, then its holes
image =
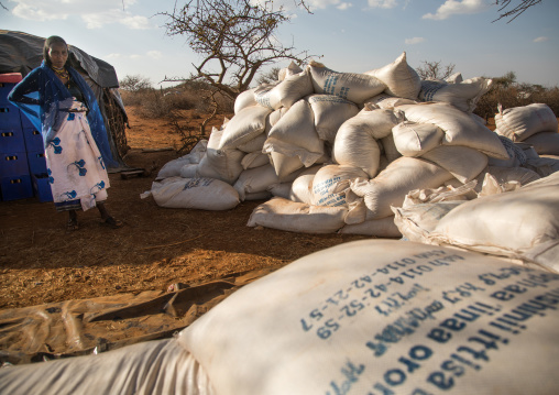
{"type": "Polygon", "coordinates": [[[362,168],[370,178],[379,171],[381,150],[377,140],[392,133],[403,120],[402,112],[375,109],[361,111],[342,123],[336,135],[332,158],[340,165],[362,168]]]}

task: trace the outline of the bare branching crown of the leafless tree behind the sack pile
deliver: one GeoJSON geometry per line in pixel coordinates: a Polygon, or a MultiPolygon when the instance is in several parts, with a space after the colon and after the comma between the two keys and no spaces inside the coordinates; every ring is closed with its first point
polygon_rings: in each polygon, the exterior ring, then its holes
{"type": "Polygon", "coordinates": [[[167,17],[167,35],[184,35],[200,56],[189,79],[204,79],[233,99],[249,89],[262,66],[308,58],[306,52],[296,53],[293,44],[284,46],[276,39],[289,17],[270,0],[187,0],[161,14],[167,17]]]}

